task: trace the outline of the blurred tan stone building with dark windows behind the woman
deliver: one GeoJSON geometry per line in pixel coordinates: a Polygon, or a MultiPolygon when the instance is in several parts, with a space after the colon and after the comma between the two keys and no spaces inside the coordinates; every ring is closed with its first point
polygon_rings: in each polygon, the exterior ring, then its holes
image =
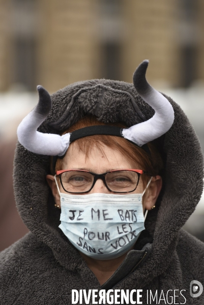
{"type": "Polygon", "coordinates": [[[0,0],[0,90],[91,78],[159,86],[204,79],[202,0],[0,0]]]}

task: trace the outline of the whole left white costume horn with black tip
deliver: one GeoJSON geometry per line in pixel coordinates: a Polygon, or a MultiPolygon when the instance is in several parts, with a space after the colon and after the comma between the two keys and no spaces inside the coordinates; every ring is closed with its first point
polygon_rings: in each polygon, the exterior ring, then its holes
{"type": "Polygon", "coordinates": [[[49,93],[37,86],[39,93],[38,105],[26,115],[17,129],[18,141],[32,153],[48,156],[63,156],[70,143],[70,134],[63,136],[45,134],[37,131],[37,128],[48,116],[52,107],[49,93]]]}

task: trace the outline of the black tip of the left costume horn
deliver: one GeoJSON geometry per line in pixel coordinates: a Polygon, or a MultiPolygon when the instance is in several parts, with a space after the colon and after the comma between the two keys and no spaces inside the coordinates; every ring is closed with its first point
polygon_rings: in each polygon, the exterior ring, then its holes
{"type": "Polygon", "coordinates": [[[41,85],[37,86],[37,90],[39,94],[39,102],[36,107],[36,111],[42,115],[48,115],[52,107],[50,95],[41,85]]]}

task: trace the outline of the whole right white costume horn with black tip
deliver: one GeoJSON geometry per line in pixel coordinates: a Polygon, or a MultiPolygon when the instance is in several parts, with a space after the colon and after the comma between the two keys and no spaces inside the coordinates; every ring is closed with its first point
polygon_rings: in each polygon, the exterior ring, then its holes
{"type": "Polygon", "coordinates": [[[174,120],[174,111],[169,101],[155,90],[145,78],[148,64],[149,60],[143,60],[137,67],[133,74],[133,83],[139,96],[155,110],[155,114],[149,120],[122,131],[124,138],[138,146],[165,134],[174,120]]]}

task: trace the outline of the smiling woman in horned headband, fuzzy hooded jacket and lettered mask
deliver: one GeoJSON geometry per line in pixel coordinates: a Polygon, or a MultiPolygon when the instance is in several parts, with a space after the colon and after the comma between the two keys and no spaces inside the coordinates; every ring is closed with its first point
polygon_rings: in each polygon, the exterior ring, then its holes
{"type": "Polygon", "coordinates": [[[67,86],[52,108],[38,87],[14,168],[31,232],[1,253],[3,304],[203,302],[192,283],[204,280],[203,243],[182,229],[202,193],[202,153],[180,107],[145,80],[147,66],[134,86],[67,86]]]}

